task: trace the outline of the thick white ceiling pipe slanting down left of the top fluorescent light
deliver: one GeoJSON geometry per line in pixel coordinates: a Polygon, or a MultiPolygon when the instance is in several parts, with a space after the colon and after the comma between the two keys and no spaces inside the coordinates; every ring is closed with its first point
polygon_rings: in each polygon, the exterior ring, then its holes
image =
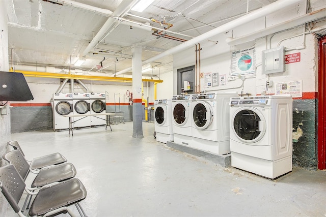
{"type": "MultiPolygon", "coordinates": [[[[128,9],[128,11],[130,10],[130,8],[134,5],[134,0],[123,0],[120,5],[118,6],[118,8],[113,12],[113,16],[121,16],[123,13],[126,12],[126,8],[128,9]]],[[[95,37],[93,38],[93,40],[89,43],[89,45],[86,47],[86,49],[84,50],[84,55],[86,55],[88,52],[90,52],[92,49],[94,49],[99,42],[106,37],[106,33],[107,31],[113,27],[114,23],[117,20],[112,19],[112,18],[108,18],[106,20],[106,22],[104,23],[104,25],[101,27],[101,29],[98,31],[98,33],[95,35],[95,37]]]]}

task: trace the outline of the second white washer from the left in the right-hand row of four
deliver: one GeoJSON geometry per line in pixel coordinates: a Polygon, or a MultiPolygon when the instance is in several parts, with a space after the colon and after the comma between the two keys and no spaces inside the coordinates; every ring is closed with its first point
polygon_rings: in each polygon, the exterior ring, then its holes
{"type": "Polygon", "coordinates": [[[175,143],[192,146],[191,95],[172,97],[172,132],[175,143]]]}

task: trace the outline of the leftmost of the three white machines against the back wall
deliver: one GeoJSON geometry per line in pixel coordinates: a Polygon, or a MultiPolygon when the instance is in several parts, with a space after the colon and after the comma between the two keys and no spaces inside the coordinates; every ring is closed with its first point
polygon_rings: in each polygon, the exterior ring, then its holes
{"type": "Polygon", "coordinates": [[[69,118],[63,115],[73,114],[72,94],[56,93],[52,97],[53,131],[69,129],[69,118]]]}

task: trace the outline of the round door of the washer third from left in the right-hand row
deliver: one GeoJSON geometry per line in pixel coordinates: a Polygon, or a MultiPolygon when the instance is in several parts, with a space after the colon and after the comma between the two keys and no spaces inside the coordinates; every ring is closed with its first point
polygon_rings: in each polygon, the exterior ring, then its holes
{"type": "Polygon", "coordinates": [[[193,110],[193,120],[197,129],[207,129],[213,120],[211,106],[206,102],[196,103],[193,110]]]}

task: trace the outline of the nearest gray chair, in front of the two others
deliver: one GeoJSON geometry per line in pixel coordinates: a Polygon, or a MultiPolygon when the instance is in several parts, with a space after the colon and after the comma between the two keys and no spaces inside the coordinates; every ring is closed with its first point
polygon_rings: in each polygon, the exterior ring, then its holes
{"type": "Polygon", "coordinates": [[[29,209],[30,216],[55,216],[61,213],[69,213],[75,216],[70,209],[75,205],[80,216],[87,216],[79,202],[87,196],[83,183],[72,178],[63,182],[55,183],[39,189],[38,192],[29,192],[25,189],[26,184],[19,175],[14,165],[9,164],[0,168],[0,188],[3,195],[19,216],[26,216],[21,211],[18,203],[24,190],[36,197],[29,209]]]}

